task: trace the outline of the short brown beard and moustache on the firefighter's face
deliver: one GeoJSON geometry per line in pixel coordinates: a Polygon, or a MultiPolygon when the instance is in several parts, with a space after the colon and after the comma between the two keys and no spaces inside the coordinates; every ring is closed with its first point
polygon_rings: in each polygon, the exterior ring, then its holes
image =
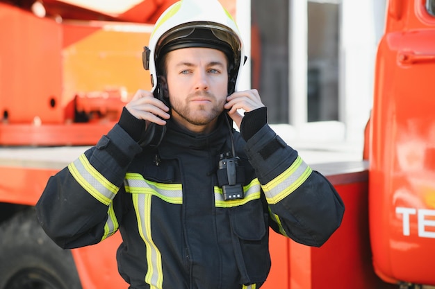
{"type": "MultiPolygon", "coordinates": [[[[217,101],[217,98],[208,91],[197,91],[194,94],[188,95],[186,103],[189,103],[189,99],[195,96],[206,96],[211,99],[212,103],[217,101]]],[[[192,107],[175,101],[171,102],[171,109],[192,125],[207,125],[222,114],[224,111],[224,101],[225,98],[220,103],[213,105],[213,107],[210,107],[210,105],[195,105],[195,107],[192,107]]]]}

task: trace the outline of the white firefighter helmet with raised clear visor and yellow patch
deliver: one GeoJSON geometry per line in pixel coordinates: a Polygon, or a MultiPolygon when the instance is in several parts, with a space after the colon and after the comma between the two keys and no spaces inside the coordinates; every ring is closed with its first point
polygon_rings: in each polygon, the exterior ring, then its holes
{"type": "Polygon", "coordinates": [[[165,53],[187,47],[218,49],[229,60],[229,94],[236,89],[245,63],[243,41],[233,17],[217,0],[181,0],[158,18],[145,47],[143,64],[151,74],[151,91],[157,85],[156,62],[165,53]]]}

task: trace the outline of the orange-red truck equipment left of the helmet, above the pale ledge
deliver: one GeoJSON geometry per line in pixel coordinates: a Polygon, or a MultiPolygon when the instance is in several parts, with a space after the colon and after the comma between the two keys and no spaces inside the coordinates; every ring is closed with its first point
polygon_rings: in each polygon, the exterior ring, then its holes
{"type": "Polygon", "coordinates": [[[140,62],[149,25],[60,21],[0,3],[0,27],[2,145],[95,143],[149,85],[140,62]]]}

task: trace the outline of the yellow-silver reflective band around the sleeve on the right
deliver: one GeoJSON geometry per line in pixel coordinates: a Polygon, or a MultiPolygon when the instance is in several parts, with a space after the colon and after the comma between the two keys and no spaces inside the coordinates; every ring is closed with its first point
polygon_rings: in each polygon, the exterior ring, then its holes
{"type": "Polygon", "coordinates": [[[290,168],[284,170],[281,175],[263,185],[263,191],[269,204],[286,198],[293,193],[311,175],[311,168],[305,164],[301,157],[297,156],[290,168]]]}

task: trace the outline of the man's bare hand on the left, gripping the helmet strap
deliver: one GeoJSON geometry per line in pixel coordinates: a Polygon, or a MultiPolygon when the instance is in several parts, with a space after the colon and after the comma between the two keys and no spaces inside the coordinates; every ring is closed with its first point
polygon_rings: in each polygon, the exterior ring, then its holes
{"type": "Polygon", "coordinates": [[[148,123],[156,123],[158,125],[165,125],[165,119],[170,119],[169,107],[158,100],[151,94],[150,91],[138,89],[136,94],[131,98],[130,102],[125,105],[126,109],[136,117],[136,119],[143,119],[147,125],[148,123]]]}

